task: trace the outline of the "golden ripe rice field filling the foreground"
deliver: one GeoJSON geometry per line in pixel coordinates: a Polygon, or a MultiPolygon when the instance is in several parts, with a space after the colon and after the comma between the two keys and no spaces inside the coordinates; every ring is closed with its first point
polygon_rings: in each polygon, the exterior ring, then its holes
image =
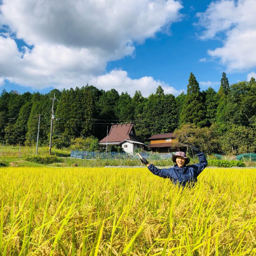
{"type": "Polygon", "coordinates": [[[0,255],[256,255],[256,168],[0,168],[0,255]]]}

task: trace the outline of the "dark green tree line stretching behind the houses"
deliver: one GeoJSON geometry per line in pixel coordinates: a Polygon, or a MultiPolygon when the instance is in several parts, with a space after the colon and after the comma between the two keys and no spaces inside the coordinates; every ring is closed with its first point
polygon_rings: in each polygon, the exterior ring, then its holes
{"type": "Polygon", "coordinates": [[[0,95],[0,142],[9,145],[36,143],[38,117],[40,145],[49,144],[53,95],[52,145],[69,147],[78,137],[102,139],[112,123],[134,123],[142,140],[156,133],[174,132],[182,143],[195,144],[208,153],[240,154],[256,152],[256,81],[229,84],[223,72],[220,88],[200,90],[190,73],[187,93],[175,97],[161,86],[143,97],[131,97],[115,89],[54,89],[49,93],[17,91],[0,95]]]}

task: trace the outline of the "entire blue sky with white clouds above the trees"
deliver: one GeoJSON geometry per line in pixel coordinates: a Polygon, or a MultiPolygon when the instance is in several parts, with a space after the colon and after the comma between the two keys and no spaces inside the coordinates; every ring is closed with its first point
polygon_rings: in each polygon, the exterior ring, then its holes
{"type": "Polygon", "coordinates": [[[3,0],[0,90],[148,96],[160,84],[177,96],[190,72],[216,91],[223,71],[230,83],[256,76],[255,0],[92,2],[3,0]]]}

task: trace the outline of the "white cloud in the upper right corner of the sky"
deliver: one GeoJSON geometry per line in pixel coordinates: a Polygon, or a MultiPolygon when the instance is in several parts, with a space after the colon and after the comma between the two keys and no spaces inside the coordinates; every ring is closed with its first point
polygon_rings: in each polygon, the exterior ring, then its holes
{"type": "Polygon", "coordinates": [[[198,12],[198,25],[205,28],[200,39],[223,38],[223,46],[208,50],[228,72],[256,66],[256,1],[220,0],[212,2],[205,12],[198,12]],[[224,36],[224,37],[223,37],[224,36]]]}

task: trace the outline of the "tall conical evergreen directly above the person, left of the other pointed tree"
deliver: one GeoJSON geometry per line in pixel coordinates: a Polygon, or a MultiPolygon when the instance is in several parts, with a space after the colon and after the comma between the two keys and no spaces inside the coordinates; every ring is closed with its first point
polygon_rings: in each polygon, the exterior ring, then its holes
{"type": "Polygon", "coordinates": [[[200,87],[193,73],[190,73],[188,79],[187,96],[184,108],[181,111],[181,123],[193,123],[198,126],[204,126],[205,110],[203,105],[200,87]]]}

